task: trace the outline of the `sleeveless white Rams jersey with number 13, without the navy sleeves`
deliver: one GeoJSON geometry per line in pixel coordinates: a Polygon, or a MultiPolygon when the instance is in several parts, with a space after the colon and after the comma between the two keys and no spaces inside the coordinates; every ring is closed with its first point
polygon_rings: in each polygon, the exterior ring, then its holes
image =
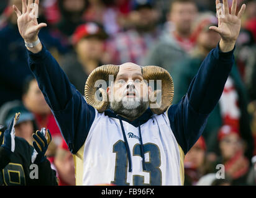
{"type": "Polygon", "coordinates": [[[96,111],[85,144],[75,155],[76,185],[183,185],[184,153],[171,131],[167,114],[153,115],[140,126],[147,170],[142,168],[139,127],[122,123],[132,171],[128,170],[119,119],[96,111]]]}

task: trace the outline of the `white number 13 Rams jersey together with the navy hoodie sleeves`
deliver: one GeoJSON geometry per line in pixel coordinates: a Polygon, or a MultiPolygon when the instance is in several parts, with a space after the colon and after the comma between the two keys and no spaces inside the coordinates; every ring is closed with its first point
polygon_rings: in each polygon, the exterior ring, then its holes
{"type": "Polygon", "coordinates": [[[202,62],[186,95],[167,113],[153,115],[146,110],[142,120],[134,121],[143,121],[138,125],[120,122],[108,110],[98,113],[88,105],[44,46],[39,53],[27,52],[30,70],[75,155],[78,185],[183,184],[184,153],[203,133],[234,64],[234,49],[223,53],[217,45],[202,62]]]}

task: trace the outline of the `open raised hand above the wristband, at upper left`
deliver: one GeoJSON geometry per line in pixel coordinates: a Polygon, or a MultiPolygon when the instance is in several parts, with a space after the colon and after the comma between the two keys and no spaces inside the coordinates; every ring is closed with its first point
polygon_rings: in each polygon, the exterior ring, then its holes
{"type": "Polygon", "coordinates": [[[41,28],[46,27],[47,24],[41,23],[38,24],[37,17],[35,14],[31,13],[38,13],[35,9],[39,7],[39,0],[35,0],[35,6],[30,6],[33,3],[33,0],[29,0],[28,4],[26,0],[22,1],[22,13],[17,9],[15,5],[12,6],[14,11],[17,14],[17,25],[19,28],[19,33],[21,37],[27,43],[32,43],[38,39],[38,33],[41,28]]]}

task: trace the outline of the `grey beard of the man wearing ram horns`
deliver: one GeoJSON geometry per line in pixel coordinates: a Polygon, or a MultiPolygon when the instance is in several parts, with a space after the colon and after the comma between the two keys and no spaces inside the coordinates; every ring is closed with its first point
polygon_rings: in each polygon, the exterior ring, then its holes
{"type": "Polygon", "coordinates": [[[129,119],[139,118],[149,108],[149,101],[111,101],[110,108],[117,114],[129,119]]]}

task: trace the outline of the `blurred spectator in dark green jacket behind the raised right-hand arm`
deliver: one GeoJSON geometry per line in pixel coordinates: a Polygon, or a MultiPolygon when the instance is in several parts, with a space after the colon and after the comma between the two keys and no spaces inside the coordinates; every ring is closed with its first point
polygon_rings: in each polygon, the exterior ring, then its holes
{"type": "MultiPolygon", "coordinates": [[[[176,65],[172,72],[175,84],[175,97],[173,103],[177,103],[189,88],[190,82],[198,72],[201,62],[206,54],[219,42],[219,35],[209,30],[211,25],[216,24],[217,19],[214,14],[204,13],[198,17],[194,25],[194,32],[197,32],[197,47],[191,52],[191,57],[176,65]]],[[[239,129],[241,137],[247,143],[246,156],[252,157],[254,151],[254,140],[250,129],[250,116],[247,111],[247,92],[240,79],[236,66],[227,79],[219,103],[214,108],[208,118],[208,123],[203,132],[208,145],[208,160],[215,160],[217,153],[217,131],[223,124],[231,124],[239,129]]]]}

